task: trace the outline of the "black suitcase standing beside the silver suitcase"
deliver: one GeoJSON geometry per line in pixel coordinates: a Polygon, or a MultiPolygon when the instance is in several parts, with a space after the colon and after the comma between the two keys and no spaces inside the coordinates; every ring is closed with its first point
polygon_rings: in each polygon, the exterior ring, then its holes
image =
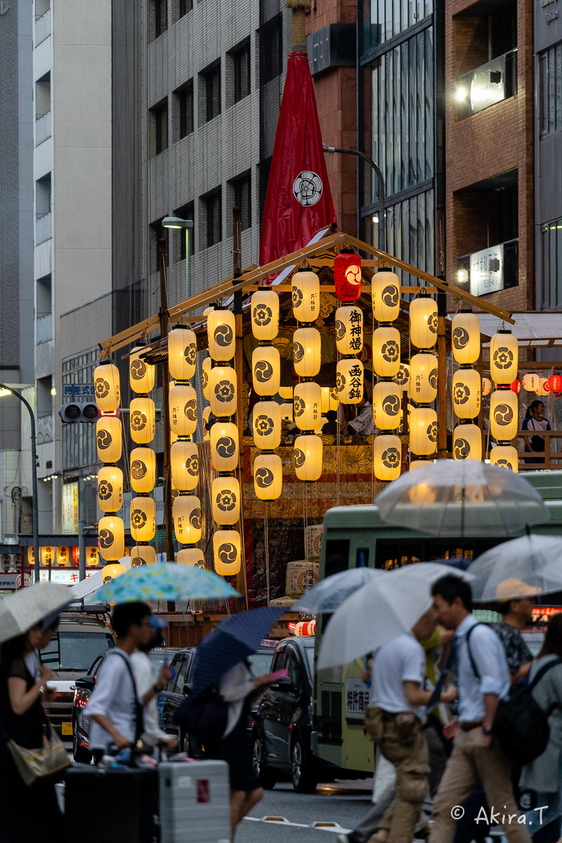
{"type": "Polygon", "coordinates": [[[158,772],[70,767],[65,777],[66,843],[153,843],[158,772]]]}

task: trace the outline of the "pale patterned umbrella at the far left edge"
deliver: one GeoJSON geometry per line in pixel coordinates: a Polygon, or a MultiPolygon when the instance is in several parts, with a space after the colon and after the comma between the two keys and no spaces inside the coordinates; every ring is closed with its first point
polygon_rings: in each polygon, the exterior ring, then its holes
{"type": "Polygon", "coordinates": [[[4,597],[0,600],[0,643],[27,632],[71,599],[69,588],[57,583],[35,583],[4,597]]]}

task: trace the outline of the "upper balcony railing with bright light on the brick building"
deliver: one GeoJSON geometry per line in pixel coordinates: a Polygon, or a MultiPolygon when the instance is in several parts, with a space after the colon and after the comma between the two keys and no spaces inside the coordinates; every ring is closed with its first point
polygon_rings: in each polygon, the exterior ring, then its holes
{"type": "Polygon", "coordinates": [[[458,116],[468,117],[517,94],[517,49],[459,76],[455,83],[458,116]]]}

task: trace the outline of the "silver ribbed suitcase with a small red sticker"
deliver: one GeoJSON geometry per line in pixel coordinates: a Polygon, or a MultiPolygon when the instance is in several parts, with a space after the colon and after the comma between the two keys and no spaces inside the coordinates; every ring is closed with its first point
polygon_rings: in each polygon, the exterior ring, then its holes
{"type": "Polygon", "coordinates": [[[224,761],[163,762],[158,790],[161,843],[228,843],[230,788],[224,761]]]}

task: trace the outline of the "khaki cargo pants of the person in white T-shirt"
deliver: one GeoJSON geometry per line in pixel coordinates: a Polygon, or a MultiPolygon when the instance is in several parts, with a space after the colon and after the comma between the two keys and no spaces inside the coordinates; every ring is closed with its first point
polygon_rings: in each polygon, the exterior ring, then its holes
{"type": "Polygon", "coordinates": [[[396,770],[396,797],[378,824],[388,831],[388,843],[412,843],[415,825],[427,795],[427,744],[415,721],[407,739],[399,738],[398,715],[384,713],[379,749],[396,770]]]}

